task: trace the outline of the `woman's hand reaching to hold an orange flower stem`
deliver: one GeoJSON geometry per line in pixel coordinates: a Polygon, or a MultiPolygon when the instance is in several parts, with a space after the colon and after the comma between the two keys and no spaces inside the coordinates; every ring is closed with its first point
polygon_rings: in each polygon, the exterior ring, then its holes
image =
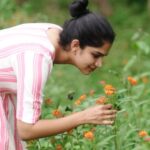
{"type": "Polygon", "coordinates": [[[83,124],[111,125],[114,123],[116,112],[110,104],[87,108],[82,111],[83,124]]]}

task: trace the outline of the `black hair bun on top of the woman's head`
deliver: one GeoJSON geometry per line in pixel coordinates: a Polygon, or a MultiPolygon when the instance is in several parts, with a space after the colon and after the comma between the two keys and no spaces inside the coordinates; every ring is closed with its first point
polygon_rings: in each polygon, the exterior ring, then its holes
{"type": "Polygon", "coordinates": [[[87,6],[88,0],[75,0],[69,6],[71,16],[74,18],[78,18],[82,15],[89,13],[87,6]]]}

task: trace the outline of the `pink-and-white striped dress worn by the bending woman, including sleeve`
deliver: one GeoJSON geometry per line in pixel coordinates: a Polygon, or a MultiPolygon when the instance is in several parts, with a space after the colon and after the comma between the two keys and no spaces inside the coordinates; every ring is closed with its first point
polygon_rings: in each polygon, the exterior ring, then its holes
{"type": "Polygon", "coordinates": [[[34,124],[41,114],[43,88],[55,48],[48,23],[27,23],[0,30],[0,150],[24,150],[16,120],[34,124]]]}

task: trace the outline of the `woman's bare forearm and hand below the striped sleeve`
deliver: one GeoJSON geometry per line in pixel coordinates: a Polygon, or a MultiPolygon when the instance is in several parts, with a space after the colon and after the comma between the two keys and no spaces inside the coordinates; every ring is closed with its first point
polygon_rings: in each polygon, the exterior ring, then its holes
{"type": "Polygon", "coordinates": [[[27,124],[18,120],[17,128],[23,140],[31,140],[59,134],[86,123],[111,125],[116,113],[111,108],[111,105],[94,106],[63,118],[39,120],[35,124],[27,124]]]}

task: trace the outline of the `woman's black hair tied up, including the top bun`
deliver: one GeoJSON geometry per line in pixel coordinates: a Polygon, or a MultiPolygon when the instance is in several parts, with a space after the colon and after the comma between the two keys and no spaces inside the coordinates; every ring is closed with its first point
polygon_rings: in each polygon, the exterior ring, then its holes
{"type": "Polygon", "coordinates": [[[101,47],[104,42],[113,43],[115,33],[108,21],[101,15],[87,9],[88,0],[75,0],[69,6],[72,19],[66,21],[60,33],[60,44],[66,49],[73,39],[80,47],[101,47]]]}

